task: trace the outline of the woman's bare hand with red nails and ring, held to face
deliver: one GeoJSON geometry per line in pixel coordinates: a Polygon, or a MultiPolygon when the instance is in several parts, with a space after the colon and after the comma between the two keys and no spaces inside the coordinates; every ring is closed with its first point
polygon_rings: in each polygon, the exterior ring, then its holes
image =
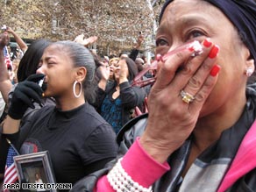
{"type": "Polygon", "coordinates": [[[191,57],[186,48],[158,63],[157,80],[148,98],[149,117],[141,145],[155,160],[167,157],[188,139],[203,103],[217,82],[218,47],[203,41],[203,53],[191,57]],[[190,103],[182,100],[181,90],[194,96],[190,103]]]}

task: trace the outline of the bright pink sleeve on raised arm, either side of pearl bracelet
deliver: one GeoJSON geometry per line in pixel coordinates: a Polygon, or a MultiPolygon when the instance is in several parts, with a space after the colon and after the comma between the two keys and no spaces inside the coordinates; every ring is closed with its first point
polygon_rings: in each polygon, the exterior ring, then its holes
{"type": "MultiPolygon", "coordinates": [[[[124,155],[121,161],[125,172],[132,177],[133,181],[138,182],[145,188],[149,188],[169,169],[167,162],[160,164],[153,160],[139,144],[139,138],[132,144],[129,151],[124,155]],[[136,158],[134,158],[136,157],[136,158]]],[[[106,175],[97,181],[95,192],[114,192],[111,188],[106,175]]]]}

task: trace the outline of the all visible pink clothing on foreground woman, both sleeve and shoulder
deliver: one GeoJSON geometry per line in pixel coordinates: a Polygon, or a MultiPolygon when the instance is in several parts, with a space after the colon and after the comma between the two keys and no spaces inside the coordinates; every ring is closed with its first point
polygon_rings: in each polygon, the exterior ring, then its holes
{"type": "MultiPolygon", "coordinates": [[[[246,133],[241,145],[238,148],[238,153],[233,160],[230,169],[224,176],[217,192],[224,192],[230,188],[232,184],[238,181],[243,175],[249,173],[256,167],[256,121],[252,124],[250,130],[246,133]]],[[[133,181],[139,182],[145,188],[151,186],[157,181],[162,174],[165,174],[170,169],[167,162],[163,165],[153,160],[140,146],[139,139],[131,146],[129,151],[124,155],[122,166],[126,173],[130,174],[133,181]],[[134,158],[137,157],[137,158],[134,158]]],[[[103,176],[97,181],[95,192],[115,192],[111,188],[106,176],[103,176]]]]}

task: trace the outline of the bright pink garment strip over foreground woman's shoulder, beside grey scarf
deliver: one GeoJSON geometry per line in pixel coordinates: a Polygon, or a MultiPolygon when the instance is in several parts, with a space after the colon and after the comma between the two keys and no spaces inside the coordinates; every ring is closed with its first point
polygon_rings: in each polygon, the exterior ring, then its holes
{"type": "Polygon", "coordinates": [[[246,133],[238,153],[233,160],[230,169],[224,176],[217,192],[224,192],[230,188],[232,184],[238,181],[243,175],[252,171],[256,167],[256,121],[252,124],[250,130],[246,133]]]}

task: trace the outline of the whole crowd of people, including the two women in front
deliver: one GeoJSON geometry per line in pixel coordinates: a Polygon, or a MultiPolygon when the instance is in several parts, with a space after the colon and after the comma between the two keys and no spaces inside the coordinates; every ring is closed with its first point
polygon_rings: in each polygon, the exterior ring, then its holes
{"type": "Polygon", "coordinates": [[[96,39],[25,46],[1,33],[4,183],[11,151],[48,151],[73,192],[256,192],[254,0],[167,0],[149,63],[142,35],[130,53],[104,57],[87,48],[96,39]]]}

